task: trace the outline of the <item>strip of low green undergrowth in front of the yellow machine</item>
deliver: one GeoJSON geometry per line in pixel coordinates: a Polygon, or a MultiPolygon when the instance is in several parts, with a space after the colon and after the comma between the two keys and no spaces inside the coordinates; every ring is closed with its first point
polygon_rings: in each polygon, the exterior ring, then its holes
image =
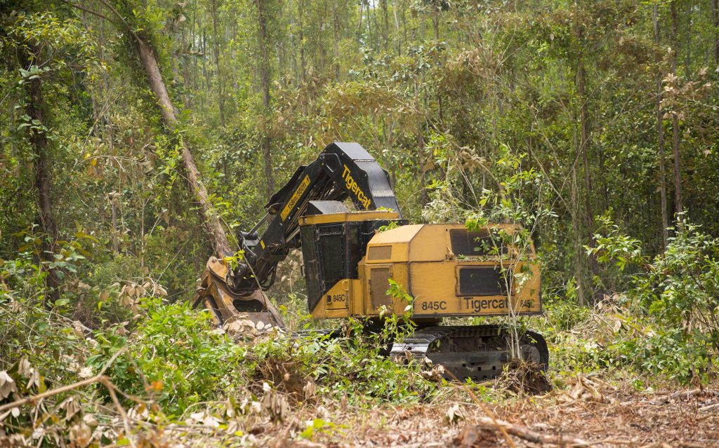
{"type": "Polygon", "coordinates": [[[118,325],[95,333],[96,348],[87,363],[104,368],[119,350],[127,350],[106,374],[122,391],[150,395],[165,414],[179,415],[200,401],[217,401],[239,390],[262,393],[263,383],[290,393],[316,384],[322,396],[362,405],[416,403],[430,400],[437,383],[422,375],[416,361],[395,363],[380,354],[390,335],[397,335],[401,317],[390,318],[379,332],[367,322],[350,322],[352,337],[260,337],[238,344],[211,325],[206,311],[188,304],[142,302],[145,316],[132,335],[118,325]]]}

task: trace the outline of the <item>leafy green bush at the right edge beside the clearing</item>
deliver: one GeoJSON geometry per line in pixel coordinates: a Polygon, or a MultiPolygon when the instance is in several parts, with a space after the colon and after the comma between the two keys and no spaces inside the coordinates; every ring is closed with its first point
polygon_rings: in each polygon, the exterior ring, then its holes
{"type": "Polygon", "coordinates": [[[624,341],[618,350],[641,370],[682,382],[706,380],[710,358],[719,356],[719,238],[684,220],[664,253],[650,258],[641,243],[600,219],[606,235],[595,235],[590,253],[620,271],[636,266],[628,305],[653,324],[644,338],[624,341]]]}

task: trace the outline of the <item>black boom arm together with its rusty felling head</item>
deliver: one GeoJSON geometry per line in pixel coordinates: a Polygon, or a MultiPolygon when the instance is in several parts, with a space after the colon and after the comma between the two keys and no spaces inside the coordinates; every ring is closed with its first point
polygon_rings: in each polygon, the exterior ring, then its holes
{"type": "Polygon", "coordinates": [[[270,320],[281,322],[262,289],[273,284],[278,263],[288,256],[291,248],[299,246],[299,218],[306,213],[311,201],[347,198],[359,210],[382,207],[400,212],[388,172],[359,144],[335,142],[314,162],[298,167],[289,182],[270,197],[265,205],[267,215],[255,228],[239,233],[244,263],[235,269],[226,266],[222,269],[223,263],[211,258],[195,303],[204,302],[213,310],[218,323],[223,323],[236,315],[237,309],[252,314],[259,302],[273,314],[270,320]],[[257,229],[262,225],[266,228],[259,235],[257,229]],[[222,292],[222,299],[211,294],[213,286],[214,291],[222,292]]]}

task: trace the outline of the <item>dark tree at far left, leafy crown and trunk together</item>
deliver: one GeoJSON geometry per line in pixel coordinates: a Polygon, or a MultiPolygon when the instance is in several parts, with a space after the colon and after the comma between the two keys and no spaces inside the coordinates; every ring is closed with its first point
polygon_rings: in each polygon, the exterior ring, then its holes
{"type": "MultiPolygon", "coordinates": [[[[53,194],[56,189],[53,170],[57,169],[57,156],[61,152],[56,143],[61,132],[58,122],[61,123],[59,119],[63,118],[63,113],[62,106],[58,107],[59,111],[53,111],[53,106],[73,101],[71,95],[75,85],[68,80],[83,75],[92,59],[93,48],[79,21],[62,19],[62,15],[55,11],[33,12],[38,9],[37,4],[21,6],[26,9],[0,18],[0,51],[12,71],[10,79],[14,84],[14,92],[10,90],[5,98],[17,95],[17,103],[12,108],[20,112],[19,126],[11,122],[12,127],[29,146],[26,160],[32,162],[37,190],[36,207],[30,207],[37,210],[37,218],[32,224],[41,232],[37,257],[45,274],[44,301],[50,305],[60,298],[60,280],[65,274],[61,269],[67,266],[59,263],[65,261],[65,256],[58,244],[60,225],[54,202],[57,193],[53,194]],[[15,90],[15,86],[19,89],[15,90]]],[[[4,144],[1,133],[0,144],[4,144]]],[[[0,167],[2,162],[0,159],[0,167]]]]}

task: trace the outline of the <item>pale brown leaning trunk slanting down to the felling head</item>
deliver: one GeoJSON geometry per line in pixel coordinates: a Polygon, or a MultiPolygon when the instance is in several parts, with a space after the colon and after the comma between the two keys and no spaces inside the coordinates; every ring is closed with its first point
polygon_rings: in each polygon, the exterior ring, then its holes
{"type": "MultiPolygon", "coordinates": [[[[165,126],[167,126],[170,131],[174,131],[177,127],[178,120],[175,116],[173,104],[170,101],[168,89],[165,87],[165,82],[162,80],[160,67],[157,66],[155,52],[142,41],[137,43],[137,52],[140,60],[142,60],[142,65],[145,67],[147,83],[150,84],[152,93],[155,93],[158,106],[160,106],[162,122],[165,123],[165,126]]],[[[196,200],[200,203],[200,218],[203,221],[205,231],[210,238],[212,248],[217,256],[232,254],[233,252],[230,248],[227,234],[225,233],[224,228],[222,228],[219,217],[214,210],[210,197],[207,193],[207,189],[200,177],[200,172],[195,165],[190,148],[188,147],[186,141],[183,140],[182,144],[182,159],[187,174],[188,184],[190,186],[190,190],[192,190],[195,195],[196,200]]]]}

